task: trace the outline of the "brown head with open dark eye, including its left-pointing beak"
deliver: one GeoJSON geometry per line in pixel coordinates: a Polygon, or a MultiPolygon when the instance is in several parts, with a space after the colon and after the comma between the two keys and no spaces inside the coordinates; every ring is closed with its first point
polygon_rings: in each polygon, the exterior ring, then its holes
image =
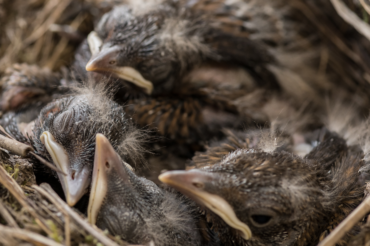
{"type": "Polygon", "coordinates": [[[240,149],[213,166],[168,171],[159,180],[201,205],[225,245],[296,245],[309,242],[330,214],[327,180],[318,172],[287,152],[240,149]]]}

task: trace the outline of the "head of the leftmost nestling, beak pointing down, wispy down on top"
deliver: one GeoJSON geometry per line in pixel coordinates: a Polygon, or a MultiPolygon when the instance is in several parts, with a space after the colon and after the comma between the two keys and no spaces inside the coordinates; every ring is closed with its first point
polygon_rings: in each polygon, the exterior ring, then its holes
{"type": "Polygon", "coordinates": [[[105,134],[118,148],[129,125],[118,104],[102,100],[97,105],[94,100],[99,101],[98,95],[94,99],[81,94],[54,100],[41,110],[30,130],[37,152],[63,171],[57,175],[70,206],[90,186],[95,135],[105,134]]]}

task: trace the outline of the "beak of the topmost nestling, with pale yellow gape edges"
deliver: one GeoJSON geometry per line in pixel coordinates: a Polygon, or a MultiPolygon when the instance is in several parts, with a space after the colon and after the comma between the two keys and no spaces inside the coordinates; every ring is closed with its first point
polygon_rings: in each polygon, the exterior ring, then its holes
{"type": "Polygon", "coordinates": [[[102,40],[94,31],[87,36],[87,43],[91,51],[91,58],[86,65],[87,71],[110,72],[115,77],[127,80],[143,88],[145,93],[152,94],[153,83],[144,79],[136,69],[129,66],[115,65],[117,53],[120,52],[119,46],[103,47],[100,50],[102,40]]]}

